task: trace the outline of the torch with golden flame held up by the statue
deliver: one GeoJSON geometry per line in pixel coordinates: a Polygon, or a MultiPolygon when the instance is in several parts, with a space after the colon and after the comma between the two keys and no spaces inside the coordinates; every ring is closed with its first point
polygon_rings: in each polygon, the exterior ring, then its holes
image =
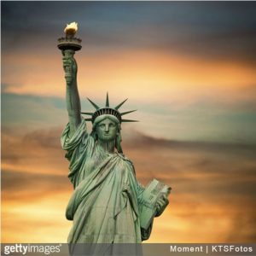
{"type": "MultiPolygon", "coordinates": [[[[70,24],[67,24],[67,26],[64,29],[66,37],[58,39],[58,48],[61,49],[62,55],[64,55],[65,57],[73,56],[75,54],[75,51],[82,48],[81,46],[82,40],[74,37],[77,31],[78,31],[78,23],[72,22],[70,24]]],[[[71,81],[72,79],[71,67],[66,67],[65,78],[67,79],[67,82],[71,81]]]]}

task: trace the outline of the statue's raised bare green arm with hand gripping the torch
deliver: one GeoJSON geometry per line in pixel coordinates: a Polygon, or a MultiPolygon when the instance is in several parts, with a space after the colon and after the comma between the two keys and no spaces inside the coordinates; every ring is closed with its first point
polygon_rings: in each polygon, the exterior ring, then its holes
{"type": "Polygon", "coordinates": [[[65,71],[66,79],[66,102],[67,102],[67,113],[70,124],[70,133],[73,134],[76,128],[81,123],[81,105],[79,98],[79,90],[77,83],[78,66],[74,59],[74,50],[66,49],[63,53],[63,67],[65,71]]]}

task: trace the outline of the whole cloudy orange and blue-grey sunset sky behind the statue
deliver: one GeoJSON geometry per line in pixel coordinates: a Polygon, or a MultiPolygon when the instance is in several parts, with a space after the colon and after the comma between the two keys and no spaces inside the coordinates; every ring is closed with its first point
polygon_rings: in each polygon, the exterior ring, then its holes
{"type": "MultiPolygon", "coordinates": [[[[123,148],[172,186],[148,242],[256,241],[255,2],[1,2],[2,242],[65,242],[73,188],[57,38],[79,23],[82,110],[137,109],[123,148]]],[[[91,125],[88,124],[90,129],[91,125]]]]}

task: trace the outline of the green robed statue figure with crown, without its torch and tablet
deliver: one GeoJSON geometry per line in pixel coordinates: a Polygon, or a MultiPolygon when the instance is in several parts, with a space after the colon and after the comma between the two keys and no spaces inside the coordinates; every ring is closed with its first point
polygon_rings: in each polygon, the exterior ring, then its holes
{"type": "MultiPolygon", "coordinates": [[[[123,116],[133,111],[119,112],[125,101],[111,108],[107,94],[104,107],[89,100],[95,112],[81,112],[74,50],[62,53],[69,122],[62,132],[61,146],[67,150],[68,177],[74,188],[66,211],[67,219],[73,220],[67,241],[141,243],[150,236],[153,219],[147,228],[142,227],[140,208],[145,189],[121,147],[121,125],[132,121],[123,116]],[[90,115],[90,119],[82,114],[90,115]],[[92,122],[90,133],[86,121],[92,122]]],[[[154,216],[160,216],[167,204],[167,197],[160,196],[153,206],[154,216]]]]}

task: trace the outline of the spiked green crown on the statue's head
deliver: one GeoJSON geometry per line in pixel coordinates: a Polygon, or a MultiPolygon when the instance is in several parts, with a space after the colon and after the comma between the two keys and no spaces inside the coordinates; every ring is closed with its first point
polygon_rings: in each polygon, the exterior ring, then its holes
{"type": "Polygon", "coordinates": [[[134,111],[137,111],[137,109],[135,110],[130,110],[130,111],[126,111],[126,112],[123,112],[123,113],[120,113],[119,112],[119,108],[128,100],[128,99],[125,99],[125,101],[119,103],[116,107],[114,108],[110,108],[109,107],[109,99],[108,99],[108,92],[107,92],[107,97],[106,97],[106,104],[105,104],[105,107],[103,108],[100,108],[98,105],[96,105],[95,102],[92,102],[89,98],[87,98],[88,101],[91,103],[91,105],[96,108],[96,111],[94,113],[89,113],[89,112],[81,112],[83,114],[87,114],[87,115],[90,115],[91,118],[89,119],[85,119],[86,121],[91,121],[91,123],[93,124],[95,119],[98,117],[98,116],[101,116],[103,114],[110,114],[110,115],[113,115],[115,116],[117,119],[119,119],[119,122],[120,123],[123,123],[123,122],[137,122],[137,120],[131,120],[131,119],[122,119],[122,116],[127,114],[127,113],[131,113],[131,112],[134,112],[134,111]]]}

